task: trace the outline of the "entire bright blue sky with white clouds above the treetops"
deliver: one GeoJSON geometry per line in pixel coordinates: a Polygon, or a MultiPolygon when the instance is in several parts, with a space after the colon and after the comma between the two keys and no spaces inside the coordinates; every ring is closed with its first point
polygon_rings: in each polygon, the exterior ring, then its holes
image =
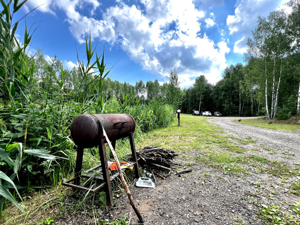
{"type": "MultiPolygon", "coordinates": [[[[215,83],[230,64],[243,62],[247,37],[258,16],[283,7],[286,0],[29,0],[15,15],[38,26],[31,51],[57,55],[64,67],[84,57],[84,30],[105,46],[110,78],[135,85],[142,79],[169,80],[176,67],[182,87],[204,74],[215,83]],[[101,35],[100,35],[101,34],[101,35]]],[[[23,23],[17,31],[20,39],[23,23]]],[[[21,41],[22,42],[22,41],[21,41]]]]}

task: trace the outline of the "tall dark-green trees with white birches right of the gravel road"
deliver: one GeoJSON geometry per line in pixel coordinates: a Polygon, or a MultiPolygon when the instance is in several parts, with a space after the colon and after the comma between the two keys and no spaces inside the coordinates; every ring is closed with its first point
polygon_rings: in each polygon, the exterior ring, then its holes
{"type": "Polygon", "coordinates": [[[244,62],[230,65],[212,85],[201,75],[184,89],[182,111],[287,119],[300,114],[300,1],[258,17],[244,62]]]}

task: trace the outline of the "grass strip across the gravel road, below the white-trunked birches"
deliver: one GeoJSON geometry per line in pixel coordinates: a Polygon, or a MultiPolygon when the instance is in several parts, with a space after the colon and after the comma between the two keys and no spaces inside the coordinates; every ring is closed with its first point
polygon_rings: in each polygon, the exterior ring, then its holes
{"type": "MultiPolygon", "coordinates": [[[[238,122],[238,120],[232,120],[233,122],[238,122]]],[[[256,127],[268,128],[273,130],[284,130],[284,131],[295,131],[300,130],[299,124],[286,124],[286,123],[268,123],[268,120],[258,120],[258,119],[242,119],[241,124],[253,125],[256,127]]]]}

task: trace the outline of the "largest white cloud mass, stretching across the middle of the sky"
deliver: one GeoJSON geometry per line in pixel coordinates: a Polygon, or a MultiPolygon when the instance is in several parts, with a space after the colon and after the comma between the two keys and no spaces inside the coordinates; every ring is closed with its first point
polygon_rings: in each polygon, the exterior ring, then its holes
{"type": "MultiPolygon", "coordinates": [[[[101,19],[82,15],[77,10],[92,7],[97,12],[96,0],[52,0],[50,5],[65,12],[70,32],[80,43],[84,42],[84,30],[90,27],[91,36],[101,34],[101,40],[120,46],[134,62],[165,81],[174,67],[182,86],[190,86],[201,74],[210,82],[220,79],[219,74],[227,66],[225,54],[229,48],[224,41],[214,43],[200,30],[199,20],[204,17],[204,11],[197,9],[192,0],[184,4],[181,0],[140,2],[143,10],[120,1],[101,11],[101,19]],[[201,32],[204,35],[200,38],[201,32]]],[[[219,0],[213,2],[223,4],[219,0]]],[[[213,13],[210,16],[213,17],[213,13]]],[[[213,26],[213,19],[208,18],[206,24],[213,26]]]]}

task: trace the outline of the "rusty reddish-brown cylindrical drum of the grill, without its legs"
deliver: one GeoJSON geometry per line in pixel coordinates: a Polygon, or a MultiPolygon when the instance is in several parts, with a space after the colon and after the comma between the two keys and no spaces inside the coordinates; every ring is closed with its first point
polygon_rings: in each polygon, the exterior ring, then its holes
{"type": "Polygon", "coordinates": [[[79,115],[71,125],[71,137],[77,146],[85,149],[100,144],[104,136],[98,120],[101,120],[110,141],[128,137],[130,132],[134,132],[136,126],[133,117],[126,113],[79,115]]]}

